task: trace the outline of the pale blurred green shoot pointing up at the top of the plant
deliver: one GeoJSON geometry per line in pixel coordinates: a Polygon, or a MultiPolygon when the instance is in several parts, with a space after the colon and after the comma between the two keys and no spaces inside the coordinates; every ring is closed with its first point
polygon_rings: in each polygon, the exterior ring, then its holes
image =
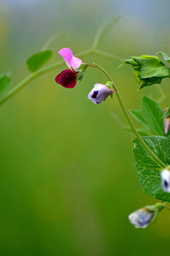
{"type": "Polygon", "coordinates": [[[103,21],[103,23],[101,24],[101,26],[99,26],[96,32],[92,48],[97,48],[99,42],[101,41],[103,36],[107,33],[108,29],[111,28],[111,26],[113,26],[113,24],[115,24],[120,18],[121,16],[118,16],[117,18],[112,17],[112,18],[107,18],[105,21],[103,21]]]}

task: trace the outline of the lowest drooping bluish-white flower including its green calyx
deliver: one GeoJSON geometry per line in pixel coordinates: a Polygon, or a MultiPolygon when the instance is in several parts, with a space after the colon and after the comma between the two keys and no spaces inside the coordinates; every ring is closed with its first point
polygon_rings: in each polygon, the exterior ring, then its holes
{"type": "Polygon", "coordinates": [[[157,220],[159,211],[164,209],[162,203],[156,203],[154,206],[145,206],[139,210],[135,210],[128,216],[130,223],[135,225],[135,228],[147,228],[147,225],[153,220],[157,220]]]}

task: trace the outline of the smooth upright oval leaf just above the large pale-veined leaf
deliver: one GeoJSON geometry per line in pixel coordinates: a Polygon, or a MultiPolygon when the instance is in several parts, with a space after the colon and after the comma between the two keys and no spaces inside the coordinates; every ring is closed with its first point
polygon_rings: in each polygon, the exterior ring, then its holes
{"type": "Polygon", "coordinates": [[[154,102],[149,97],[142,98],[142,117],[147,122],[148,127],[161,136],[164,136],[163,114],[164,110],[159,107],[157,102],[154,102]]]}

